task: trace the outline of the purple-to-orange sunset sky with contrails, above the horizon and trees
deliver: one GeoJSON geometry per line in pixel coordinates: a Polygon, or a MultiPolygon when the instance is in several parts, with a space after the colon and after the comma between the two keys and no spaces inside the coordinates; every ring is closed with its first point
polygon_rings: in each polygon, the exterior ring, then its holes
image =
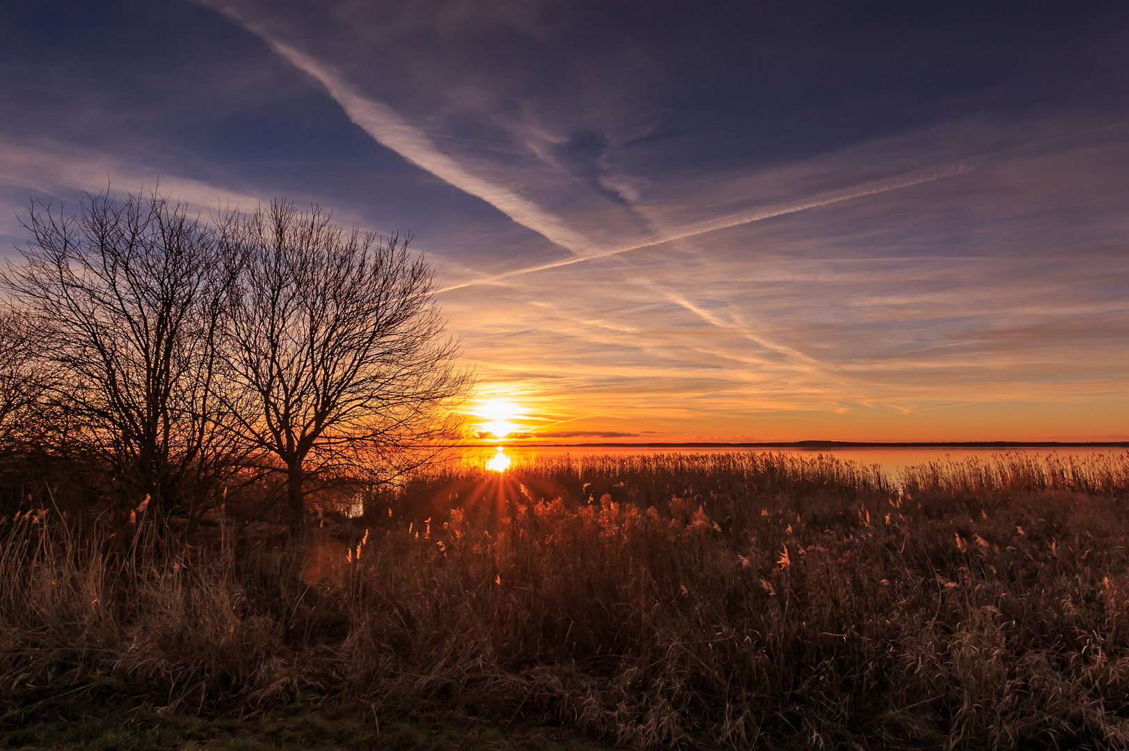
{"type": "Polygon", "coordinates": [[[1129,439],[1129,5],[0,18],[9,259],[30,197],[285,197],[413,237],[511,443],[1129,439]]]}

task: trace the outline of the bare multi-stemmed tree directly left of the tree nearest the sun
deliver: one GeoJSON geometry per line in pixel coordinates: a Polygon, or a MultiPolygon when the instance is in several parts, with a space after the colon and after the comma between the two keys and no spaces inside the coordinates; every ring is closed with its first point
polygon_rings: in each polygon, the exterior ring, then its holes
{"type": "Polygon", "coordinates": [[[159,513],[198,509],[231,462],[215,398],[238,277],[222,253],[230,221],[203,221],[155,192],[116,200],[107,190],[77,212],[33,201],[25,263],[3,277],[40,326],[54,398],[77,425],[68,440],[159,513]]]}

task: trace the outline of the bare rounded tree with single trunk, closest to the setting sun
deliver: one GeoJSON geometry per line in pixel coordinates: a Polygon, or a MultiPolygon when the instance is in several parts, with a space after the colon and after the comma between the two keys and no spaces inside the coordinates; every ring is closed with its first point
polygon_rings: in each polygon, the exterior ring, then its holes
{"type": "Polygon", "coordinates": [[[310,480],[386,481],[431,460],[471,376],[408,239],[272,202],[238,235],[245,269],[226,351],[239,433],[286,472],[294,530],[310,480]]]}

